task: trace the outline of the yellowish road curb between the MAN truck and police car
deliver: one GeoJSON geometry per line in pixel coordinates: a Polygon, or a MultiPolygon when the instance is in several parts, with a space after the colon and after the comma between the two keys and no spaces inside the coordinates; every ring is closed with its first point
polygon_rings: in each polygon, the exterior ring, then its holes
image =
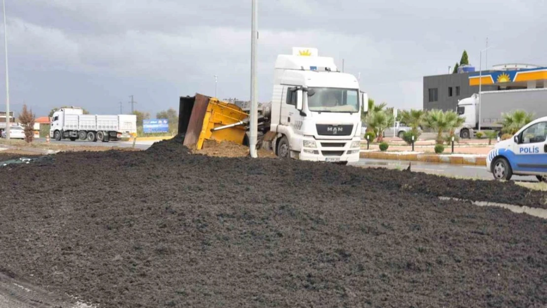
{"type": "Polygon", "coordinates": [[[486,156],[458,154],[421,154],[397,152],[361,152],[360,158],[434,162],[437,164],[486,166],[486,156]]]}

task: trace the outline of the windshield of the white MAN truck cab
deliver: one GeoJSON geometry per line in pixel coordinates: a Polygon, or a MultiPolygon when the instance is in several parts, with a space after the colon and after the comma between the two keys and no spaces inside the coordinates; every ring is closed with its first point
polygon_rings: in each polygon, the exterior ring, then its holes
{"type": "Polygon", "coordinates": [[[310,88],[315,91],[308,97],[308,108],[316,112],[359,112],[357,89],[310,88]]]}

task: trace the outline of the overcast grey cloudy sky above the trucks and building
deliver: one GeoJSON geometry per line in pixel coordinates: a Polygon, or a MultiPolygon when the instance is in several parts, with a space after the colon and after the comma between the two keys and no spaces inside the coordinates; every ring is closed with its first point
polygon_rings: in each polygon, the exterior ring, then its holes
{"type": "MultiPolygon", "coordinates": [[[[5,2],[16,112],[26,102],[37,115],[63,104],[116,114],[121,101],[128,113],[134,95],[154,116],[178,110],[179,96],[214,95],[214,75],[219,97],[249,99],[250,0],[5,2]]],[[[547,65],[547,1],[479,2],[260,0],[259,100],[271,100],[276,55],[293,46],[345,59],[363,91],[398,108],[422,108],[423,76],[447,72],[463,49],[478,67],[486,37],[488,66],[547,65]]]]}

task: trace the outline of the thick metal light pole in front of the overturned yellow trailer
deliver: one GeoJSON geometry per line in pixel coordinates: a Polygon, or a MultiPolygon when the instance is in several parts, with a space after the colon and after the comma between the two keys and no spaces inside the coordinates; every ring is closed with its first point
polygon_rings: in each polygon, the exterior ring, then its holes
{"type": "Polygon", "coordinates": [[[249,153],[257,158],[257,129],[258,129],[258,102],[257,102],[257,41],[258,41],[258,0],[252,0],[251,18],[251,134],[249,136],[249,153]]]}

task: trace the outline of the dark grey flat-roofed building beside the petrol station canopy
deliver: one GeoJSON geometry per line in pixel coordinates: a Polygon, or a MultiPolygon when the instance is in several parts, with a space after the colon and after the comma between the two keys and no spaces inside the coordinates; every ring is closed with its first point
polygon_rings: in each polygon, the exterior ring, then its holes
{"type": "MultiPolygon", "coordinates": [[[[488,73],[490,71],[484,71],[488,73]]],[[[497,86],[482,86],[482,91],[497,90],[497,86]]],[[[432,75],[423,77],[423,109],[456,111],[458,100],[479,93],[478,86],[469,85],[469,73],[432,75]]]]}

